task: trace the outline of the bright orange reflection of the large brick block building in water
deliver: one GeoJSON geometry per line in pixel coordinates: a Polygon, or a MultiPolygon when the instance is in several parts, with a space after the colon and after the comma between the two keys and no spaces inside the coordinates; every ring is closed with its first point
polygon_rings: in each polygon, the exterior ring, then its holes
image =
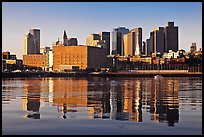
{"type": "Polygon", "coordinates": [[[67,118],[67,112],[77,112],[87,106],[86,79],[53,79],[53,106],[57,106],[62,118],[67,118]]]}

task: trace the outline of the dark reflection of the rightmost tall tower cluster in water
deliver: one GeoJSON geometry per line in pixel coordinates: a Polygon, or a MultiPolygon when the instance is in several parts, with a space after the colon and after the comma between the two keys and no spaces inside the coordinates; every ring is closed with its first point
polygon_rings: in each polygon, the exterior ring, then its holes
{"type": "Polygon", "coordinates": [[[151,120],[155,122],[168,122],[174,126],[179,120],[179,85],[176,79],[154,79],[151,91],[150,113],[151,120]]]}

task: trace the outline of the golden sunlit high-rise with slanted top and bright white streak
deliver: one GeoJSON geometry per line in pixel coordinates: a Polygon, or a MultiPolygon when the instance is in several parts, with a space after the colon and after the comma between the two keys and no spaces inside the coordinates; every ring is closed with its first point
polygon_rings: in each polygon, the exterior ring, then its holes
{"type": "Polygon", "coordinates": [[[134,28],[123,36],[124,56],[140,55],[142,53],[142,28],[134,28]]]}

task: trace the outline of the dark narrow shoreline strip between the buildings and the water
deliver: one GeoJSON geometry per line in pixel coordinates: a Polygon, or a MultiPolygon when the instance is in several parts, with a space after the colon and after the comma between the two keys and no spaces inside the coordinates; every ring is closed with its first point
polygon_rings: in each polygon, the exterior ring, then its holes
{"type": "Polygon", "coordinates": [[[202,77],[202,72],[145,70],[135,72],[2,72],[2,78],[24,77],[202,77]]]}

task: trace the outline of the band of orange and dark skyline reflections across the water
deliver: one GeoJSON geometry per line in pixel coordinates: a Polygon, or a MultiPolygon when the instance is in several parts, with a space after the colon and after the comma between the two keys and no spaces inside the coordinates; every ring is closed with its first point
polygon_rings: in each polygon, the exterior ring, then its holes
{"type": "MultiPolygon", "coordinates": [[[[62,119],[86,117],[143,122],[146,113],[155,123],[175,126],[179,122],[179,108],[188,105],[196,110],[202,106],[202,78],[90,77],[15,81],[23,83],[23,110],[27,111],[26,118],[32,119],[40,119],[41,103],[48,102],[62,119]]],[[[8,98],[15,87],[10,83],[12,80],[3,81],[3,103],[10,101],[8,98]]]]}

